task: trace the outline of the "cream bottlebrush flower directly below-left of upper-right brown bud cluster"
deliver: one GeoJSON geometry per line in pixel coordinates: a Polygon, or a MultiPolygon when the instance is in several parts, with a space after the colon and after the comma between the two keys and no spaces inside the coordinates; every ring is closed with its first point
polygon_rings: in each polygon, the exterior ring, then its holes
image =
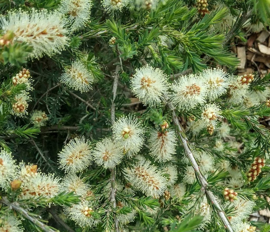
{"type": "Polygon", "coordinates": [[[248,93],[249,85],[242,83],[241,76],[231,76],[228,88],[228,102],[239,104],[248,93]]]}

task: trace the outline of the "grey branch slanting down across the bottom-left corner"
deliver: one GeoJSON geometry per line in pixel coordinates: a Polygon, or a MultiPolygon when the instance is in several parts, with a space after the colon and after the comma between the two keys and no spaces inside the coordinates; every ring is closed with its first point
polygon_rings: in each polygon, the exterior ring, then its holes
{"type": "Polygon", "coordinates": [[[17,202],[9,202],[9,200],[6,197],[3,197],[1,199],[1,202],[4,203],[5,205],[9,206],[11,209],[14,209],[18,213],[22,214],[25,218],[27,218],[29,221],[32,221],[36,226],[41,228],[43,231],[46,232],[55,232],[52,228],[47,226],[46,224],[42,223],[39,221],[37,218],[30,216],[29,211],[26,209],[23,209],[17,202]]]}

